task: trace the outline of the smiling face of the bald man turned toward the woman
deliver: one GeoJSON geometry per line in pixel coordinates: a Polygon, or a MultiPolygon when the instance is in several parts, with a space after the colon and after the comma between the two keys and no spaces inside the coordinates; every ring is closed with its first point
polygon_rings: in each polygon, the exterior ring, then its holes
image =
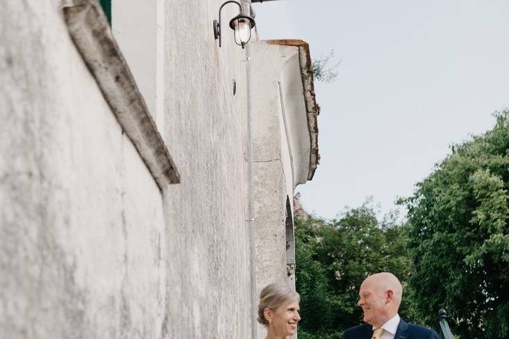
{"type": "Polygon", "coordinates": [[[358,306],[364,312],[364,321],[376,327],[386,322],[388,306],[385,292],[377,286],[375,279],[366,279],[360,286],[358,306]]]}

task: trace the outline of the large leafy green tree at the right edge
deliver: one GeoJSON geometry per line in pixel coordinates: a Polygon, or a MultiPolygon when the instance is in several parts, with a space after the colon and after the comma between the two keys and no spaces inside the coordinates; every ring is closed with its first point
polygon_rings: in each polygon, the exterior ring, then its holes
{"type": "Polygon", "coordinates": [[[495,117],[401,201],[416,309],[432,325],[445,308],[461,338],[509,338],[509,112],[495,117]]]}

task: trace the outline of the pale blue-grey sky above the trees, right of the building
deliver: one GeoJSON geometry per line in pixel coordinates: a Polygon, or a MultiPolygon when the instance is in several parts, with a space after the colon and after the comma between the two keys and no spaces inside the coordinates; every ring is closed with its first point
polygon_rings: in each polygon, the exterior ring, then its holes
{"type": "Polygon", "coordinates": [[[316,83],[319,152],[299,185],[304,208],[332,218],[369,196],[380,213],[509,108],[508,0],[279,0],[253,3],[261,40],[294,38],[312,58],[334,50],[316,83]]]}

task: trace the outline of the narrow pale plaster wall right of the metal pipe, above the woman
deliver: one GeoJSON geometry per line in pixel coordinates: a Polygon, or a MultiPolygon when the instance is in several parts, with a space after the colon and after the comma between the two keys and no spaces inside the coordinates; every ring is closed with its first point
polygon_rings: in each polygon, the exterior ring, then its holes
{"type": "MultiPolygon", "coordinates": [[[[286,197],[293,197],[292,163],[283,121],[279,81],[297,47],[256,42],[253,49],[253,134],[256,197],[256,288],[272,282],[294,286],[286,270],[286,197]]],[[[297,53],[297,54],[296,54],[297,53]]],[[[292,65],[292,64],[290,64],[292,65]]],[[[299,74],[299,65],[293,68],[299,74]]],[[[290,98],[291,99],[291,98],[290,98]]],[[[294,164],[298,165],[298,164],[294,164]]],[[[258,338],[266,330],[258,326],[258,338]]]]}

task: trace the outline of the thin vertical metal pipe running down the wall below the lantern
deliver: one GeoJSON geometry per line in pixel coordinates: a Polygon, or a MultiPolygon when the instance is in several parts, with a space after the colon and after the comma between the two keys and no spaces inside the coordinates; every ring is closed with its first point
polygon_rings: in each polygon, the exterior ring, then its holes
{"type": "MultiPolygon", "coordinates": [[[[251,15],[251,0],[244,0],[251,15]]],[[[247,88],[247,190],[248,190],[248,220],[249,220],[249,256],[251,279],[251,339],[256,336],[256,317],[258,307],[256,301],[256,221],[253,187],[253,85],[251,76],[251,46],[246,46],[246,88],[247,88]]]]}

